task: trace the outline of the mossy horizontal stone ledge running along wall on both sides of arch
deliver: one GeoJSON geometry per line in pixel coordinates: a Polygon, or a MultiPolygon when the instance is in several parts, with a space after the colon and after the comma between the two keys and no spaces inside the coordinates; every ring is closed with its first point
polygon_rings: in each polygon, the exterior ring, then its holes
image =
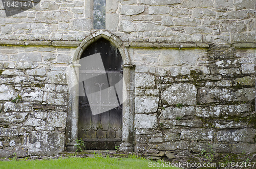
{"type": "MultiPolygon", "coordinates": [[[[58,46],[58,47],[78,47],[80,41],[27,41],[27,40],[0,40],[0,45],[17,45],[17,46],[58,46]]],[[[124,42],[125,47],[157,47],[157,48],[208,48],[207,43],[152,43],[152,42],[124,42]]],[[[232,45],[236,48],[256,48],[256,43],[230,43],[215,45],[232,45]]]]}

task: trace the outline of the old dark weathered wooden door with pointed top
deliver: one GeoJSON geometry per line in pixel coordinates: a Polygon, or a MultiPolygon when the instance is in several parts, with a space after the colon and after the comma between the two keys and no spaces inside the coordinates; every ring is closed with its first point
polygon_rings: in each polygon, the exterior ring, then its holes
{"type": "Polygon", "coordinates": [[[114,150],[122,139],[122,57],[117,47],[101,38],[81,59],[78,138],[86,142],[87,150],[114,150]]]}

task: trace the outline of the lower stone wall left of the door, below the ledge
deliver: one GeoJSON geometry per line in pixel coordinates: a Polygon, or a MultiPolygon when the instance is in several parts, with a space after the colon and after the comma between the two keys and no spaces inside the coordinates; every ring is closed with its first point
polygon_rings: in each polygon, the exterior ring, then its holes
{"type": "Polygon", "coordinates": [[[0,46],[0,157],[64,150],[67,64],[74,49],[0,46]]]}

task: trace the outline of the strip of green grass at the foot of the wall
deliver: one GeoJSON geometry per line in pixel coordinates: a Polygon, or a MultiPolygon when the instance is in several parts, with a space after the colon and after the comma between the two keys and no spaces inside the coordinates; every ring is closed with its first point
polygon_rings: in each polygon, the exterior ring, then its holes
{"type": "MultiPolygon", "coordinates": [[[[150,161],[143,158],[111,158],[96,155],[95,157],[69,157],[51,160],[11,160],[0,161],[0,168],[161,168],[149,167],[148,162],[163,163],[161,161],[150,161]]],[[[166,168],[166,167],[163,167],[166,168]]]]}

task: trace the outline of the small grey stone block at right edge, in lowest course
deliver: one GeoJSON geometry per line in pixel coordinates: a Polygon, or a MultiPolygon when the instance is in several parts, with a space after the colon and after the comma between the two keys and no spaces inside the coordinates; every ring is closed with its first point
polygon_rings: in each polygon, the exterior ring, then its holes
{"type": "Polygon", "coordinates": [[[232,147],[232,153],[256,153],[256,146],[255,144],[250,144],[250,143],[237,143],[233,144],[232,147]]]}

